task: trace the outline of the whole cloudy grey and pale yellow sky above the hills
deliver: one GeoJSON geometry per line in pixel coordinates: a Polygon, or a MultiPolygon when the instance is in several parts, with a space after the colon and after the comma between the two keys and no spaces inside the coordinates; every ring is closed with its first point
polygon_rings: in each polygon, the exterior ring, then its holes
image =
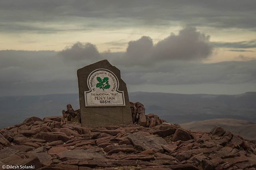
{"type": "Polygon", "coordinates": [[[0,96],[77,93],[108,59],[132,91],[256,91],[256,1],[0,0],[0,96]]]}

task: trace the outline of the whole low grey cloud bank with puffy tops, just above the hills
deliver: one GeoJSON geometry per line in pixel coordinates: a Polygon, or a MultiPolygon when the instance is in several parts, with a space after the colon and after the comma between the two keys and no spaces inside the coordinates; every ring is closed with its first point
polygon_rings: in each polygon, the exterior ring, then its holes
{"type": "Polygon", "coordinates": [[[128,42],[126,51],[100,53],[77,42],[62,51],[0,51],[0,94],[76,93],[78,68],[108,59],[128,85],[256,84],[256,60],[202,63],[210,57],[210,36],[184,28],[153,43],[149,36],[128,42]]]}

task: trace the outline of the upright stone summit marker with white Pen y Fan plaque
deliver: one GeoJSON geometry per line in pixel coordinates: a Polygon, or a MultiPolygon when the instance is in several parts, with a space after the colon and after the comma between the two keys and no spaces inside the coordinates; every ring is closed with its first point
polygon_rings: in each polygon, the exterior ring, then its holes
{"type": "Polygon", "coordinates": [[[126,84],[107,60],[77,70],[83,127],[132,124],[126,84]]]}

